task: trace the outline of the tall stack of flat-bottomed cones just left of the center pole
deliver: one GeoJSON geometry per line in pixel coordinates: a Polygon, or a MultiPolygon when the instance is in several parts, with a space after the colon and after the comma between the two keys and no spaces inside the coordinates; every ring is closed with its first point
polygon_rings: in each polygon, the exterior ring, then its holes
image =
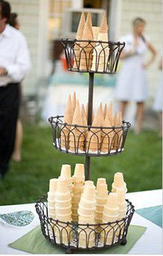
{"type": "Polygon", "coordinates": [[[72,219],[78,221],[78,205],[84,187],[84,164],[75,165],[75,173],[73,176],[73,194],[72,194],[72,219]]]}

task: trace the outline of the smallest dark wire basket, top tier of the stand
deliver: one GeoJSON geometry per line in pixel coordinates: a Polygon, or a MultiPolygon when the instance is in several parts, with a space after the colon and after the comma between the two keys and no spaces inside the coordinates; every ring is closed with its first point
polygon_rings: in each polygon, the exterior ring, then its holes
{"type": "Polygon", "coordinates": [[[67,69],[75,72],[115,74],[124,42],[61,39],[67,69]]]}

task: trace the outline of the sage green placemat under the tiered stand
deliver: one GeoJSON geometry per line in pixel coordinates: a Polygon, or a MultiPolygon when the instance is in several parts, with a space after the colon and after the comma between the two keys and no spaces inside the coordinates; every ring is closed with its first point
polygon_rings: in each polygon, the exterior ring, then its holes
{"type": "MultiPolygon", "coordinates": [[[[99,250],[75,250],[75,253],[97,253],[97,254],[126,254],[133,247],[140,237],[144,234],[146,228],[140,227],[138,225],[131,225],[128,229],[127,234],[127,244],[125,246],[117,245],[113,248],[99,249],[99,250]]],[[[17,241],[9,244],[11,248],[17,250],[23,250],[26,253],[32,254],[64,254],[66,250],[60,248],[50,241],[46,240],[41,233],[40,225],[25,234],[23,237],[19,238],[17,241]]]]}

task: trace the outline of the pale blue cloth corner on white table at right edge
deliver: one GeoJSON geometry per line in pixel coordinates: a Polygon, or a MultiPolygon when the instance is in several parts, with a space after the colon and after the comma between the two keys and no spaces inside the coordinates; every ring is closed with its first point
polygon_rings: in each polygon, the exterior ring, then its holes
{"type": "Polygon", "coordinates": [[[136,210],[136,212],[162,228],[162,205],[142,208],[136,210]]]}

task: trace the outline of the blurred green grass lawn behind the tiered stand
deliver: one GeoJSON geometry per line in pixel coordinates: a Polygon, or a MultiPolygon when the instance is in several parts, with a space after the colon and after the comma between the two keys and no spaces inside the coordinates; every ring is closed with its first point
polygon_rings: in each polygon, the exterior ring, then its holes
{"type": "MultiPolygon", "coordinates": [[[[48,191],[50,178],[59,176],[61,164],[84,163],[85,158],[67,155],[52,146],[50,126],[24,125],[22,162],[11,162],[6,178],[0,181],[0,205],[32,203],[48,191]]],[[[112,157],[91,159],[90,179],[105,177],[111,189],[113,175],[124,173],[128,191],[162,187],[162,142],[157,132],[145,130],[141,135],[131,131],[125,151],[112,157]]],[[[149,198],[150,200],[150,198],[149,198]]]]}

